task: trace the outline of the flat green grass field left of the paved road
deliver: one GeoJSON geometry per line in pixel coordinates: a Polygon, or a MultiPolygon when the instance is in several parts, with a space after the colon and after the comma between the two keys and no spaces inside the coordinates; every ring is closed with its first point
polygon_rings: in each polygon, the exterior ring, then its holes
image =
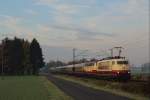
{"type": "Polygon", "coordinates": [[[42,76],[0,77],[0,100],[71,100],[42,76]]]}

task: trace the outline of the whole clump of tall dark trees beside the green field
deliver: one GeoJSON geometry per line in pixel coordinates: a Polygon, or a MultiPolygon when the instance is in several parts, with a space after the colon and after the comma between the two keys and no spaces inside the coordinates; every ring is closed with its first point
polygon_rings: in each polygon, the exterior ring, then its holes
{"type": "Polygon", "coordinates": [[[5,75],[37,75],[44,66],[42,49],[32,42],[15,37],[5,38],[0,44],[0,72],[5,75]]]}

